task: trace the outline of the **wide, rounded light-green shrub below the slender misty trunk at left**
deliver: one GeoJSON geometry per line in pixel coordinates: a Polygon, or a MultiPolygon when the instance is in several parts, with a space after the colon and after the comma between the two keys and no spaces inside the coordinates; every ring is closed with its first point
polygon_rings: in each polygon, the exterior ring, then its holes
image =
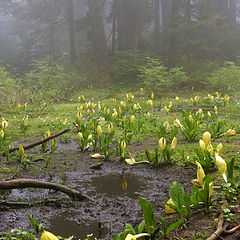
{"type": "Polygon", "coordinates": [[[21,85],[30,101],[60,101],[73,95],[76,78],[81,82],[81,76],[73,70],[68,71],[64,66],[47,58],[33,64],[33,69],[25,74],[21,85]]]}

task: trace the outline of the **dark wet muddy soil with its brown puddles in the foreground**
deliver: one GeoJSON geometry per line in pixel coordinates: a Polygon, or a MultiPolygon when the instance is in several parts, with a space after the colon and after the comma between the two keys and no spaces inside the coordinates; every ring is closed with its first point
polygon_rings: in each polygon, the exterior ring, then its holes
{"type": "MultiPolygon", "coordinates": [[[[143,150],[143,146],[144,144],[141,147],[132,144],[130,149],[143,150]]],[[[43,222],[45,229],[56,235],[73,235],[73,239],[84,239],[87,234],[93,233],[97,239],[109,240],[124,230],[125,223],[135,226],[142,221],[138,196],[152,202],[156,218],[159,219],[159,216],[165,216],[162,202],[169,199],[169,184],[179,181],[189,191],[190,180],[196,178],[195,173],[176,166],[154,167],[144,163],[129,166],[119,160],[91,159],[89,154],[92,152],[81,153],[74,141],[59,145],[58,150],[51,154],[48,168],[42,161],[47,156],[39,157],[39,148],[26,153],[31,162],[26,170],[21,168],[14,178],[28,177],[62,183],[90,196],[93,201],[63,201],[61,205],[30,208],[0,207],[0,232],[12,228],[32,231],[27,217],[29,214],[37,222],[43,222]],[[103,163],[100,169],[90,169],[92,164],[98,162],[103,163]],[[123,178],[127,181],[125,190],[122,186],[123,178]]],[[[15,164],[17,163],[12,162],[10,166],[15,164]]],[[[34,201],[45,198],[65,199],[67,196],[42,189],[15,189],[4,192],[1,198],[8,201],[34,201]]],[[[208,231],[207,235],[210,235],[215,231],[216,224],[213,220],[218,216],[219,212],[214,209],[210,215],[203,214],[203,211],[192,213],[190,221],[173,235],[182,239],[194,239],[194,232],[208,231]]],[[[169,221],[174,219],[175,216],[171,216],[169,221]]],[[[199,239],[205,238],[201,236],[199,239]]],[[[236,233],[226,239],[240,238],[236,233]]]]}

